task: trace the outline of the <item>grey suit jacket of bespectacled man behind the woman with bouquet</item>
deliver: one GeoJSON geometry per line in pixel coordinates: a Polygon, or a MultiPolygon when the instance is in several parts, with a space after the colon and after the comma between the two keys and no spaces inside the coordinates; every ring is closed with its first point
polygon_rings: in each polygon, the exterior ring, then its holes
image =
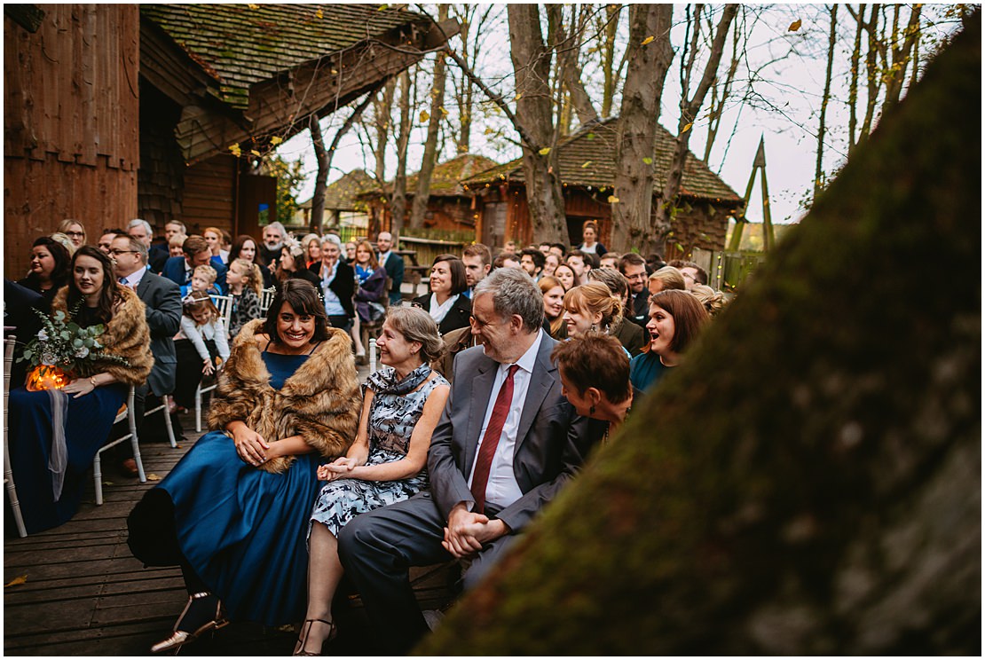
{"type": "MultiPolygon", "coordinates": [[[[184,260],[184,257],[174,257],[184,260]]],[[[147,325],[151,330],[151,353],[154,368],[147,384],[157,396],[174,391],[177,358],[173,337],[181,327],[181,288],[170,280],[144,273],[137,285],[137,297],[147,307],[147,325]]]]}

